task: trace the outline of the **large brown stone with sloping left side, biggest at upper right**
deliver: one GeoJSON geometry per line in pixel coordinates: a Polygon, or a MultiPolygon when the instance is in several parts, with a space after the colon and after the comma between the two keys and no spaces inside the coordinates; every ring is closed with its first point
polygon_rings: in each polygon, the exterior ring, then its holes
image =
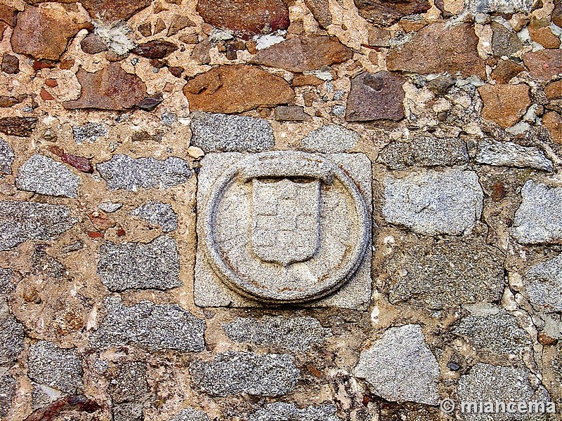
{"type": "Polygon", "coordinates": [[[477,51],[478,37],[473,25],[450,27],[434,23],[417,32],[386,58],[388,70],[421,74],[449,72],[485,80],[485,65],[477,51]]]}

